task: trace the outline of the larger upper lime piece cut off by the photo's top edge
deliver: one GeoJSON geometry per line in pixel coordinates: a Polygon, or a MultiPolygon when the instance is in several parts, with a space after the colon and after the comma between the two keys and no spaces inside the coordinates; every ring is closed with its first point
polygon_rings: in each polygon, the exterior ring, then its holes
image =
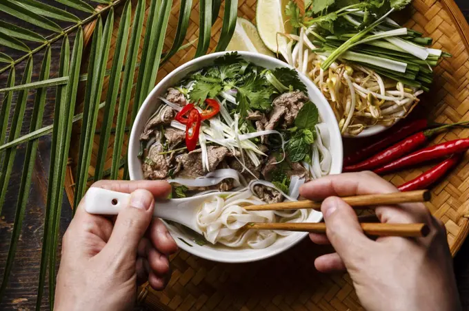
{"type": "Polygon", "coordinates": [[[289,0],[258,0],[256,10],[256,23],[259,36],[266,47],[272,52],[286,55],[287,39],[279,35],[289,34],[292,31],[285,7],[289,0]]]}

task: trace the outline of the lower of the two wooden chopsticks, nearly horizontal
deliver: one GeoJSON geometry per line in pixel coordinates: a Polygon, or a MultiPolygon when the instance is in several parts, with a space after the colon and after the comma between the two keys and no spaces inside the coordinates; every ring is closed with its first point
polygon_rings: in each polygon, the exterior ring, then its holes
{"type": "MultiPolygon", "coordinates": [[[[426,237],[430,233],[430,228],[426,224],[381,224],[366,223],[360,224],[363,233],[366,235],[376,236],[395,236],[395,237],[426,237]]],[[[257,230],[286,230],[286,231],[302,231],[314,233],[326,233],[326,224],[323,222],[281,222],[281,223],[264,223],[254,222],[246,224],[248,229],[257,230]]]]}

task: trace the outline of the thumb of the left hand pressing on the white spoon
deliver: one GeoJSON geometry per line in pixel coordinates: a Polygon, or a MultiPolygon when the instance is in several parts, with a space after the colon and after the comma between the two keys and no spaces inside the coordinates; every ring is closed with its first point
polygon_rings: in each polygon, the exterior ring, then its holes
{"type": "Polygon", "coordinates": [[[115,257],[137,257],[137,246],[153,217],[154,198],[148,190],[137,189],[117,215],[106,248],[115,257]]]}

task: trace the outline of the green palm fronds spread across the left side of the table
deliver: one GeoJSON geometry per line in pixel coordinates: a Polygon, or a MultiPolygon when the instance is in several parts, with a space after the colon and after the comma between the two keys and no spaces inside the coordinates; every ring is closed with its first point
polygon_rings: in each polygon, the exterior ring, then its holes
{"type": "MultiPolygon", "coordinates": [[[[192,0],[181,0],[181,12],[179,14],[176,36],[174,37],[172,47],[164,55],[162,61],[161,56],[163,42],[168,26],[172,0],[149,1],[150,8],[148,8],[146,34],[143,39],[143,49],[141,50],[141,66],[137,64],[137,59],[139,55],[141,33],[143,30],[143,19],[146,13],[145,0],[137,0],[129,41],[128,32],[130,29],[132,13],[131,0],[91,0],[92,2],[104,4],[104,6],[99,6],[99,9],[97,10],[86,3],[86,1],[82,0],[56,1],[63,3],[68,8],[87,12],[89,13],[89,16],[84,19],[79,19],[77,15],[72,14],[67,10],[61,10],[59,8],[54,8],[54,6],[46,5],[45,3],[42,3],[41,0],[0,0],[0,10],[2,12],[6,12],[17,19],[27,21],[28,23],[39,26],[40,28],[54,32],[54,34],[45,38],[36,32],[28,30],[27,28],[0,21],[0,45],[26,52],[26,55],[15,60],[7,54],[0,52],[0,62],[8,64],[6,67],[0,68],[0,73],[10,70],[6,86],[3,89],[0,89],[0,93],[4,93],[0,111],[0,152],[5,153],[5,155],[0,158],[2,160],[2,162],[0,162],[0,189],[2,191],[0,193],[0,211],[5,200],[6,187],[8,186],[8,180],[10,179],[16,147],[22,142],[28,142],[26,145],[26,158],[15,215],[16,226],[14,226],[13,229],[12,243],[10,244],[7,268],[5,270],[6,277],[3,277],[3,283],[0,288],[0,297],[1,293],[4,292],[8,281],[8,274],[11,270],[15,248],[17,246],[19,234],[21,233],[21,222],[25,213],[26,202],[28,200],[28,189],[30,188],[31,183],[32,165],[34,164],[34,157],[37,153],[37,138],[52,132],[50,175],[46,205],[46,220],[44,224],[43,249],[41,253],[41,269],[39,271],[37,310],[41,307],[41,298],[43,295],[47,270],[49,270],[50,305],[53,305],[54,303],[57,240],[59,237],[59,220],[61,215],[61,203],[63,200],[63,184],[65,181],[68,150],[72,136],[72,122],[80,119],[83,120],[83,132],[79,142],[80,160],[77,163],[77,183],[75,185],[74,206],[76,207],[77,203],[86,191],[87,182],[90,181],[88,179],[88,167],[91,159],[93,138],[96,133],[97,114],[99,109],[101,109],[101,107],[106,107],[105,111],[103,111],[103,125],[99,130],[99,152],[93,179],[99,180],[103,178],[103,175],[107,175],[108,173],[112,179],[116,179],[119,173],[119,168],[123,163],[126,163],[125,157],[124,159],[121,157],[121,151],[123,140],[126,136],[126,129],[128,129],[126,126],[126,119],[128,116],[130,99],[132,97],[132,87],[137,86],[132,114],[130,117],[130,126],[132,126],[134,118],[137,115],[137,111],[141,107],[143,100],[154,87],[161,63],[164,63],[179,50],[192,45],[194,42],[192,41],[186,45],[182,45],[188,32],[192,0]],[[112,67],[106,70],[114,19],[113,7],[124,2],[126,2],[126,5],[123,8],[121,22],[117,32],[117,49],[114,52],[112,67]],[[103,27],[101,16],[105,12],[109,12],[109,15],[106,20],[106,25],[103,27]],[[80,76],[79,70],[81,67],[81,56],[83,51],[83,30],[81,29],[81,26],[93,21],[94,19],[98,19],[98,21],[93,34],[88,74],[80,76]],[[62,30],[62,28],[52,20],[72,22],[74,24],[62,30]],[[67,36],[75,31],[77,31],[77,35],[70,59],[70,46],[67,36]],[[59,64],[59,76],[49,78],[50,45],[54,41],[61,39],[63,39],[63,44],[59,64]],[[26,41],[37,42],[39,43],[39,46],[34,45],[34,49],[30,50],[30,47],[28,47],[29,43],[26,41]],[[46,54],[42,63],[39,81],[31,82],[32,55],[43,49],[46,49],[46,54]],[[126,51],[127,55],[125,55],[126,51]],[[126,61],[125,66],[123,66],[124,59],[126,61]],[[17,65],[22,61],[27,61],[26,70],[23,74],[21,84],[15,86],[14,65],[17,65]],[[137,75],[137,83],[134,84],[134,73],[137,67],[139,67],[139,73],[137,75]],[[119,94],[119,84],[121,81],[122,71],[123,79],[121,92],[119,94]],[[108,75],[110,75],[108,85],[109,92],[106,96],[106,102],[99,104],[103,87],[103,79],[104,76],[108,75]],[[87,81],[86,94],[83,113],[74,116],[79,81],[87,81]],[[57,87],[54,125],[41,127],[44,96],[48,87],[57,87]],[[38,89],[34,100],[32,123],[30,126],[30,132],[19,137],[29,89],[38,89]],[[12,106],[13,92],[18,92],[19,96],[11,120],[8,142],[4,143],[8,118],[12,106]],[[110,170],[104,171],[104,160],[106,158],[108,143],[112,133],[112,120],[114,118],[114,110],[118,97],[119,107],[117,113],[117,125],[115,128],[112,167],[110,170]]],[[[200,30],[199,43],[197,44],[197,51],[195,54],[196,57],[208,52],[210,46],[210,32],[213,23],[217,20],[217,16],[221,8],[221,0],[201,0],[199,8],[200,30]]],[[[226,45],[228,45],[232,33],[234,32],[236,17],[237,0],[227,0],[223,15],[221,38],[219,45],[217,45],[217,51],[225,50],[226,45]]],[[[124,178],[126,178],[127,175],[128,168],[125,167],[124,178]]]]}

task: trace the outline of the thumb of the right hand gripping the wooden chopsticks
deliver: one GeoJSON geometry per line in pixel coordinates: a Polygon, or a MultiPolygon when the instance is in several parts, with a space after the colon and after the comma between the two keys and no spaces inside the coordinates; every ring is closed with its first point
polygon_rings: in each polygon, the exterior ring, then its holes
{"type": "Polygon", "coordinates": [[[321,205],[326,235],[345,264],[367,248],[372,240],[363,234],[355,211],[339,197],[328,197],[321,205]]]}

